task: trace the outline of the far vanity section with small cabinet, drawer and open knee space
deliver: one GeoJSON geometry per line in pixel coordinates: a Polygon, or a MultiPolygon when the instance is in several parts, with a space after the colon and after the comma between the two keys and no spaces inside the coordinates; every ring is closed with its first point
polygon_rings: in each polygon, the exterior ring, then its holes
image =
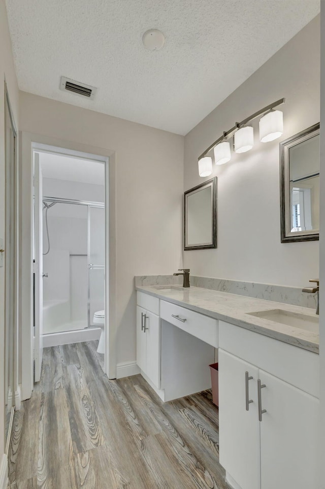
{"type": "Polygon", "coordinates": [[[137,304],[137,365],[159,397],[209,389],[217,320],[141,292],[137,304]]]}

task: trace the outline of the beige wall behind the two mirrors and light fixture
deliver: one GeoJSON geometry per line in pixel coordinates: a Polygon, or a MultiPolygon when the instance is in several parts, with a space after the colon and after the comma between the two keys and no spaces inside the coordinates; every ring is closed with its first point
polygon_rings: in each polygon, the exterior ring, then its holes
{"type": "MultiPolygon", "coordinates": [[[[206,179],[198,156],[223,131],[282,97],[282,139],[319,122],[319,16],[185,136],[184,190],[206,179]]],[[[218,248],[185,251],[192,274],[306,286],[318,277],[318,242],[280,242],[279,139],[213,165],[218,177],[218,248]]]]}

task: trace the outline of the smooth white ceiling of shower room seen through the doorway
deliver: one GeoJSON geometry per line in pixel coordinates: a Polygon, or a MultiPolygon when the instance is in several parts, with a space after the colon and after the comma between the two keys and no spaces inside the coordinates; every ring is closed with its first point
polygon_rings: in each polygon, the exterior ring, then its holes
{"type": "Polygon", "coordinates": [[[104,163],[51,153],[40,153],[40,163],[44,178],[105,184],[104,163]]]}

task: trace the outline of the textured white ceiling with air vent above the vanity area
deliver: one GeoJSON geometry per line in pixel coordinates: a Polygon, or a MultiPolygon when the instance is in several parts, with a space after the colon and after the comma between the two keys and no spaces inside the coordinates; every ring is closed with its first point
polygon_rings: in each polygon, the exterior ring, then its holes
{"type": "Polygon", "coordinates": [[[319,1],[6,0],[19,88],[186,134],[319,12],[319,1]],[[166,35],[149,51],[142,35],[166,35]],[[60,76],[98,87],[59,90],[60,76]]]}

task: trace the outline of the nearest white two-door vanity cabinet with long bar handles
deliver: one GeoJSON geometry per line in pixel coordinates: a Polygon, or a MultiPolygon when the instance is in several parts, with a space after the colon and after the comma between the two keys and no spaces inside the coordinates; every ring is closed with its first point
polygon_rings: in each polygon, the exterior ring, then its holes
{"type": "Polygon", "coordinates": [[[220,464],[229,482],[316,488],[318,355],[221,321],[219,344],[220,464]]]}

